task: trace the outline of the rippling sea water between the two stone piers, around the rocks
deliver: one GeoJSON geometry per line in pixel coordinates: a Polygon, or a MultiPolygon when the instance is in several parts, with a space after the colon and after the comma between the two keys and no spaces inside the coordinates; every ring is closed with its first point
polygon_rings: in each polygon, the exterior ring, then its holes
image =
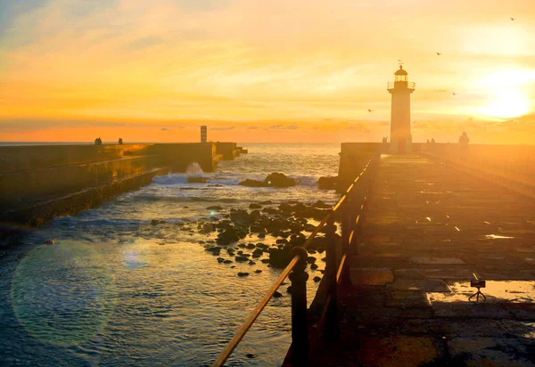
{"type": "MultiPolygon", "coordinates": [[[[259,260],[218,264],[200,241],[195,221],[271,200],[333,204],[317,190],[321,175],[337,175],[339,144],[243,144],[249,154],[203,174],[155,177],[77,216],[57,218],[0,247],[0,361],[3,366],[210,365],[258,304],[280,270],[259,260]],[[248,188],[245,178],[271,172],[295,187],[248,188]],[[203,175],[206,184],[187,184],[203,175]],[[220,206],[221,211],[208,210],[220,206]],[[163,224],[152,225],[156,219],[163,224]],[[53,240],[54,244],[45,244],[53,240]],[[10,249],[7,247],[11,246],[10,249]],[[235,266],[235,268],[231,267],[235,266]],[[261,273],[255,273],[261,270],[261,273]],[[238,272],[251,273],[240,278],[238,272]]],[[[313,222],[312,222],[313,223],[313,222]]],[[[276,239],[251,235],[239,243],[276,239]]],[[[251,250],[252,251],[252,250],[251,250]]],[[[247,252],[251,252],[247,251],[247,252]]],[[[325,254],[324,254],[325,256],[325,254]]],[[[233,259],[222,251],[220,257],[233,259]]],[[[317,290],[309,270],[309,302],[317,290]]],[[[291,342],[290,295],[272,299],[227,365],[276,366],[291,342]]]]}

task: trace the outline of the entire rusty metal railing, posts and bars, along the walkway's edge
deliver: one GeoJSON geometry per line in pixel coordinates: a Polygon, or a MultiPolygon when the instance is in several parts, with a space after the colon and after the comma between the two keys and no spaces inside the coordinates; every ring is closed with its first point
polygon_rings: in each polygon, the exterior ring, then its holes
{"type": "MultiPolygon", "coordinates": [[[[218,355],[216,361],[212,364],[214,367],[222,366],[226,362],[228,357],[235,350],[235,347],[238,346],[242,338],[245,336],[245,333],[251,328],[252,324],[256,321],[259,314],[262,312],[264,307],[268,305],[269,300],[273,297],[276,290],[280,287],[282,282],[286,279],[287,276],[290,277],[292,281],[292,346],[291,346],[291,359],[292,365],[304,366],[309,363],[309,323],[308,323],[308,307],[307,307],[307,280],[309,279],[309,274],[305,272],[307,266],[307,257],[308,252],[307,248],[316,238],[317,233],[325,227],[325,237],[327,238],[327,249],[326,249],[326,265],[325,265],[325,277],[327,282],[327,297],[325,299],[325,309],[322,313],[322,321],[320,324],[323,325],[325,320],[327,321],[327,330],[325,334],[329,338],[336,338],[338,334],[338,322],[337,322],[337,301],[336,301],[336,289],[339,280],[344,278],[343,269],[347,268],[344,265],[347,262],[347,250],[350,248],[350,243],[355,239],[356,234],[356,225],[359,223],[359,218],[361,217],[361,211],[364,208],[364,197],[363,203],[358,208],[358,216],[356,221],[350,219],[351,216],[346,216],[346,224],[342,224],[342,243],[345,242],[342,246],[343,256],[338,264],[336,257],[336,226],[334,225],[335,215],[340,212],[342,204],[345,202],[353,203],[355,197],[354,194],[357,191],[356,187],[359,183],[365,181],[363,176],[366,173],[366,170],[369,169],[374,163],[376,157],[372,157],[366,163],[366,166],[362,172],[355,178],[347,191],[342,195],[342,198],[333,206],[331,211],[322,219],[322,221],[317,225],[314,232],[312,232],[307,241],[302,245],[302,247],[295,247],[292,249],[292,260],[288,264],[277,280],[273,283],[271,288],[268,290],[266,295],[260,300],[259,305],[256,306],[251,314],[245,319],[242,326],[239,330],[236,331],[234,338],[232,338],[225,349],[221,351],[218,355]],[[351,222],[353,222],[351,224],[351,222]],[[348,232],[348,230],[350,230],[348,232]],[[344,231],[348,232],[348,235],[345,236],[346,240],[344,241],[344,231]],[[349,241],[348,241],[349,240],[349,241]],[[292,273],[290,273],[292,272],[292,273]]],[[[348,206],[349,208],[349,206],[348,206]]],[[[345,273],[345,277],[349,277],[349,273],[345,273]]],[[[318,328],[319,330],[319,328],[318,328]]],[[[316,338],[313,338],[313,345],[316,338]]]]}

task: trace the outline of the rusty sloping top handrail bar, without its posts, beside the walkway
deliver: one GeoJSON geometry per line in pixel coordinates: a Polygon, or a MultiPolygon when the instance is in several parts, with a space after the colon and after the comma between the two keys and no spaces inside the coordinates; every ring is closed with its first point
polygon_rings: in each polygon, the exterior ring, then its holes
{"type": "MultiPolygon", "coordinates": [[[[310,243],[314,240],[314,238],[316,238],[317,236],[317,233],[325,226],[325,224],[327,224],[327,222],[332,219],[332,216],[334,215],[334,213],[336,213],[336,211],[342,206],[342,203],[344,200],[346,200],[347,198],[347,195],[350,194],[350,192],[352,191],[353,187],[355,186],[355,184],[358,182],[359,178],[364,174],[364,172],[366,172],[366,168],[369,167],[370,163],[372,162],[374,158],[372,159],[369,159],[368,162],[366,163],[366,166],[364,167],[364,169],[362,170],[362,172],[360,173],[360,175],[358,175],[355,180],[353,181],[353,183],[350,185],[350,188],[346,191],[346,193],[344,195],[342,195],[342,198],[340,200],[338,200],[338,202],[333,206],[333,208],[331,208],[331,211],[330,213],[328,213],[322,220],[319,224],[317,224],[317,227],[315,228],[315,230],[310,233],[309,235],[309,238],[307,239],[307,241],[305,241],[305,243],[303,243],[303,245],[301,246],[302,248],[304,249],[307,249],[307,247],[309,247],[310,243]]],[[[304,250],[303,250],[304,251],[304,250]]],[[[277,280],[273,283],[273,285],[271,286],[271,288],[268,290],[268,292],[264,295],[264,297],[260,300],[259,302],[259,305],[256,306],[252,311],[251,311],[251,314],[249,314],[249,316],[245,319],[245,321],[243,322],[242,326],[240,327],[239,330],[236,331],[235,333],[235,336],[230,339],[230,341],[227,343],[225,349],[223,349],[221,351],[221,353],[218,355],[218,358],[216,359],[216,361],[212,364],[213,367],[219,367],[219,366],[222,366],[223,363],[226,362],[226,360],[228,359],[228,357],[232,354],[232,352],[235,350],[235,347],[238,346],[238,344],[240,343],[240,341],[242,340],[242,338],[245,336],[245,334],[247,333],[247,331],[249,329],[251,329],[251,326],[252,324],[256,321],[256,319],[259,317],[259,314],[262,312],[262,310],[268,305],[268,302],[269,300],[273,297],[273,295],[275,294],[276,290],[281,286],[282,282],[284,281],[284,279],[286,279],[286,277],[288,276],[288,274],[293,270],[293,268],[299,263],[299,260],[300,260],[300,256],[299,255],[295,255],[293,258],[292,258],[292,261],[290,261],[290,264],[288,264],[284,270],[283,270],[283,273],[280,274],[280,276],[277,278],[277,280]]],[[[337,272],[339,273],[339,272],[337,272]]],[[[338,277],[337,277],[338,278],[338,277]]],[[[337,279],[338,280],[338,279],[337,279]]]]}

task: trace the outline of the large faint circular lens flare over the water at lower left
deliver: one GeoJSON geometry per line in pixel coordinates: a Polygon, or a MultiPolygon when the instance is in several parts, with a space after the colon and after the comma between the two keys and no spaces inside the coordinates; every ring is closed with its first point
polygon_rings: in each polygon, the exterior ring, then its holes
{"type": "Polygon", "coordinates": [[[12,277],[12,309],[39,341],[62,347],[85,343],[113,313],[111,272],[95,249],[76,242],[37,247],[12,277]]]}

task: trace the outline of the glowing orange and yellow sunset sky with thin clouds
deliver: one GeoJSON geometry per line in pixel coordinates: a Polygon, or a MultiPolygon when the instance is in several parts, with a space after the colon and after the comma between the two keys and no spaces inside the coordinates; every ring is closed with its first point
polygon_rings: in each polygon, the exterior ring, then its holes
{"type": "Polygon", "coordinates": [[[416,82],[415,141],[535,138],[533,0],[0,9],[0,141],[197,141],[202,124],[220,141],[377,141],[390,134],[399,59],[416,82]]]}

